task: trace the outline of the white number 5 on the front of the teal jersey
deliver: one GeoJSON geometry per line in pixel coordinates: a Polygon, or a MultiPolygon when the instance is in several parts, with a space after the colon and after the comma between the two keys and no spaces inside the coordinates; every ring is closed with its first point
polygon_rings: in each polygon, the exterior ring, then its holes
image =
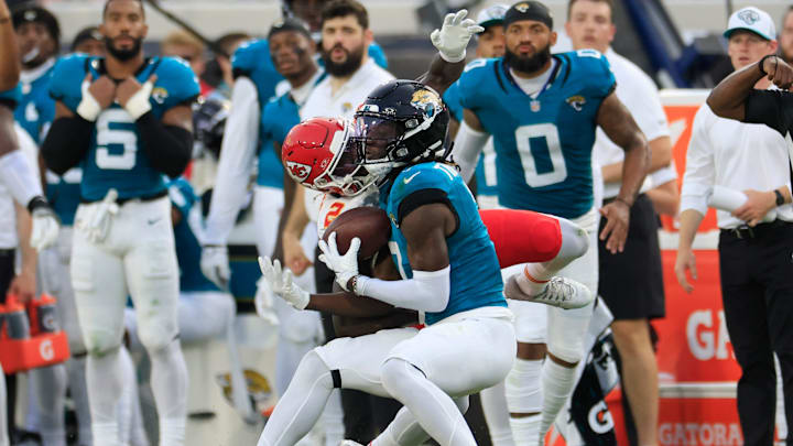
{"type": "Polygon", "coordinates": [[[97,159],[99,168],[112,168],[117,171],[129,171],[135,165],[138,154],[138,135],[132,130],[111,129],[110,123],[130,123],[134,120],[121,109],[108,109],[102,111],[97,119],[97,159]],[[120,144],[123,152],[110,153],[110,144],[120,144]]]}

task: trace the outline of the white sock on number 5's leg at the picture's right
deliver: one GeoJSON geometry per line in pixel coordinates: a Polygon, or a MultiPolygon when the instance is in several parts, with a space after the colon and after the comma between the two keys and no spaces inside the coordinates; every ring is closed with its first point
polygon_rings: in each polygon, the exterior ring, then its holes
{"type": "Polygon", "coordinates": [[[160,418],[160,446],[182,446],[187,421],[187,366],[178,339],[150,351],[151,388],[160,418]]]}

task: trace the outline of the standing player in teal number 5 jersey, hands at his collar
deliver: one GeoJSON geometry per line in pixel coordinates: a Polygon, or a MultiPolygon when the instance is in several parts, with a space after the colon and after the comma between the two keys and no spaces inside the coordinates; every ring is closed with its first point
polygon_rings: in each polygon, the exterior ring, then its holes
{"type": "Polygon", "coordinates": [[[144,57],[145,12],[108,0],[100,32],[107,57],[72,55],[55,66],[55,121],[42,145],[47,167],[83,167],[72,285],[88,351],[96,444],[117,444],[119,347],[130,295],[152,360],[160,444],[184,444],[187,370],[178,341],[178,268],[165,175],[191,157],[198,83],[189,66],[144,57]]]}

